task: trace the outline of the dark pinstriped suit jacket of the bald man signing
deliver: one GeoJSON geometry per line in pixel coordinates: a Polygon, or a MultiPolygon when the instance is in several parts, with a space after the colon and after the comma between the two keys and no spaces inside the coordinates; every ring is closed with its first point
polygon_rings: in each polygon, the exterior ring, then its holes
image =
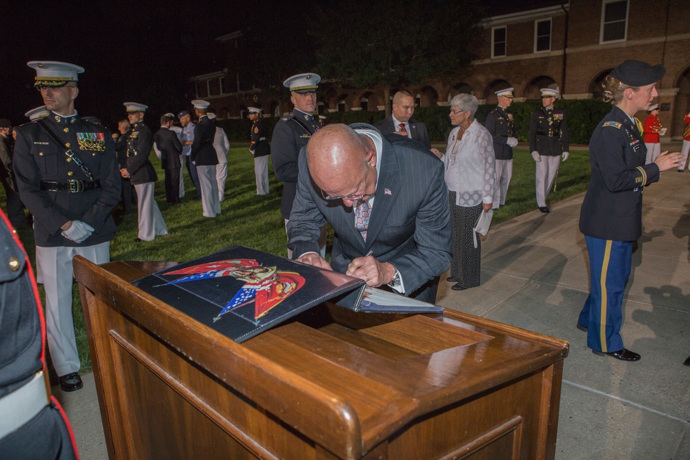
{"type": "MultiPolygon", "coordinates": [[[[364,123],[352,128],[375,129],[364,123]]],[[[309,176],[306,150],[299,153],[297,195],[288,223],[288,247],[297,258],[318,252],[319,228],[335,230],[331,266],[346,272],[348,263],[369,250],[380,262],[400,270],[406,295],[434,302],[430,281],[451,264],[451,223],[442,161],[420,143],[399,134],[382,134],[381,168],[366,242],[355,228],[351,208],[326,201],[309,176]]],[[[433,288],[433,289],[432,289],[433,288]]]]}

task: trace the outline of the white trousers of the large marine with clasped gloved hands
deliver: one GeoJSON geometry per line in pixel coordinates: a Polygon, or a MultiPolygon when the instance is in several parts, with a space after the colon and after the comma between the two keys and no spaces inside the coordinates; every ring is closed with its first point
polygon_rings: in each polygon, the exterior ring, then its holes
{"type": "Polygon", "coordinates": [[[41,264],[37,270],[46,289],[46,331],[52,365],[59,377],[81,368],[75,323],[72,319],[72,259],[78,254],[93,263],[110,261],[110,241],[72,248],[36,246],[41,264]]]}

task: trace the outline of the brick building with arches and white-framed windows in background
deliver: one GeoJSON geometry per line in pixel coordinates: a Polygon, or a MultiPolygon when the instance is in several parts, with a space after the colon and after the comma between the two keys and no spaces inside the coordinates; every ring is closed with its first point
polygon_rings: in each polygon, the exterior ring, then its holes
{"type": "MultiPolygon", "coordinates": [[[[515,88],[517,101],[538,99],[539,89],[550,83],[558,83],[566,99],[588,99],[600,97],[602,79],[618,63],[640,59],[667,68],[658,84],[660,119],[669,128],[667,136],[682,136],[682,118],[690,110],[690,1],[544,0],[540,4],[526,10],[517,4],[504,14],[486,17],[477,28],[475,59],[468,68],[405,89],[416,95],[422,107],[444,106],[460,92],[475,94],[480,103],[495,103],[494,92],[507,86],[515,88]]],[[[286,91],[281,95],[254,88],[245,74],[233,69],[232,57],[244,46],[242,32],[217,40],[228,48],[228,68],[194,77],[196,97],[208,99],[221,119],[245,117],[247,106],[263,108],[267,117],[290,112],[286,91]]],[[[319,113],[385,107],[382,86],[348,88],[322,77],[319,113]]]]}

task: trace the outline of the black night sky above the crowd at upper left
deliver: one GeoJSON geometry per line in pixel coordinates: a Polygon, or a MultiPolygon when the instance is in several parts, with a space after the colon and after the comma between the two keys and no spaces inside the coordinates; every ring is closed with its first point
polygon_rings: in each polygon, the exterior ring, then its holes
{"type": "MultiPolygon", "coordinates": [[[[26,62],[66,61],[86,69],[79,76],[75,108],[81,116],[100,117],[113,129],[124,118],[125,101],[145,103],[147,123],[157,126],[159,114],[188,108],[190,77],[225,66],[219,37],[251,27],[276,35],[276,46],[310,39],[306,29],[328,33],[327,26],[300,19],[310,1],[4,1],[0,7],[0,117],[19,125],[24,112],[43,105],[33,88],[34,71],[26,62]],[[277,12],[280,10],[280,12],[277,12]],[[293,14],[293,17],[286,17],[293,14]],[[280,17],[275,17],[279,15],[280,17]],[[266,27],[266,19],[285,23],[282,31],[266,27]],[[287,32],[282,37],[280,32],[287,32]]],[[[327,1],[337,8],[337,1],[327,1]]],[[[408,0],[414,1],[414,0],[408,0]]],[[[530,6],[560,3],[524,0],[530,6]]],[[[514,1],[486,1],[493,16],[515,7],[514,1]]],[[[323,4],[323,3],[322,3],[323,4]]],[[[401,2],[404,5],[404,2],[401,2]]],[[[442,13],[442,12],[440,12],[442,13]]],[[[356,19],[356,18],[355,18],[356,19]]],[[[296,71],[303,71],[296,63],[296,71]]]]}

